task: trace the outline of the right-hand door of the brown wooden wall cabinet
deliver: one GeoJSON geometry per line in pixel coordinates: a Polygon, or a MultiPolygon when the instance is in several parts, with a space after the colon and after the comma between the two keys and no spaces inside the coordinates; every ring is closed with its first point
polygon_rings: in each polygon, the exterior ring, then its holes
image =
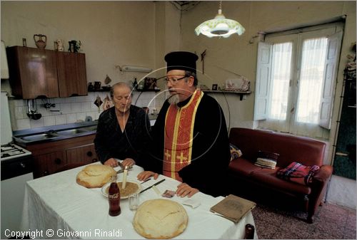
{"type": "Polygon", "coordinates": [[[84,53],[56,52],[59,96],[87,94],[86,56],[84,53]]]}

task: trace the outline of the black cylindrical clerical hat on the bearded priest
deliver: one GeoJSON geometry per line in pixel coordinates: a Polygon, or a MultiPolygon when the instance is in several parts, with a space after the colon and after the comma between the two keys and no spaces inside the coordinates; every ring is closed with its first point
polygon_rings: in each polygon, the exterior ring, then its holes
{"type": "Polygon", "coordinates": [[[165,56],[167,71],[178,69],[196,73],[197,59],[198,56],[195,53],[183,51],[167,53],[165,56]]]}

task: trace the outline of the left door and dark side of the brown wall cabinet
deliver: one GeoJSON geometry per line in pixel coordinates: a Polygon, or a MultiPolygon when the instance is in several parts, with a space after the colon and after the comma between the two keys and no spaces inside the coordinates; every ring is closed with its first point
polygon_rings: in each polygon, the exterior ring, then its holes
{"type": "Polygon", "coordinates": [[[12,94],[24,99],[59,97],[56,52],[14,46],[6,48],[12,94]]]}

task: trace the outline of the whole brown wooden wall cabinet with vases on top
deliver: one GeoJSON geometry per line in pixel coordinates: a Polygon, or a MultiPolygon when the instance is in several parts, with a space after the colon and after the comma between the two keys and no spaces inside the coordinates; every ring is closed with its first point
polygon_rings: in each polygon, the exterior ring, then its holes
{"type": "Polygon", "coordinates": [[[84,53],[6,48],[12,94],[23,99],[86,95],[84,53]]]}

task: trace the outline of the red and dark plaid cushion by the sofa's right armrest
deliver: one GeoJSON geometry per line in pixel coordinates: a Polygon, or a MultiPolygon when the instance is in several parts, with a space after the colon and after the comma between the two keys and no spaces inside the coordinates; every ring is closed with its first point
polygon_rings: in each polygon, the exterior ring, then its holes
{"type": "Polygon", "coordinates": [[[291,162],[288,167],[280,169],[276,172],[276,176],[287,181],[309,185],[312,182],[313,175],[318,172],[318,169],[320,169],[320,167],[316,165],[309,167],[304,166],[299,162],[291,162]]]}

